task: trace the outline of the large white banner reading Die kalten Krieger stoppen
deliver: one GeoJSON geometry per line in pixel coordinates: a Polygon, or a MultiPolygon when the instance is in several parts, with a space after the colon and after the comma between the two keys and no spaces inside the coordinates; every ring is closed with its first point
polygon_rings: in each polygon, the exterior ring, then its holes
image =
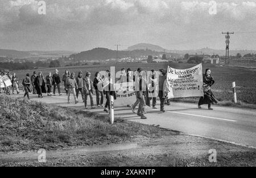
{"type": "Polygon", "coordinates": [[[167,82],[169,98],[204,96],[202,64],[189,69],[175,69],[168,66],[167,82]]]}

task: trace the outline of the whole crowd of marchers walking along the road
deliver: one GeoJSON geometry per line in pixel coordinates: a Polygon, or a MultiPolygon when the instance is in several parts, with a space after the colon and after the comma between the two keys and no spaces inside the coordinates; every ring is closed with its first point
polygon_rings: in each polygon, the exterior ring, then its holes
{"type": "MultiPolygon", "coordinates": [[[[160,111],[164,112],[164,104],[170,105],[170,101],[167,98],[168,92],[170,91],[166,80],[167,74],[164,69],[159,69],[158,73],[152,69],[151,74],[148,76],[146,72],[143,73],[142,71],[142,68],[138,68],[137,71],[132,71],[130,68],[127,70],[122,68],[117,84],[123,82],[135,82],[135,86],[138,86],[138,88],[135,89],[136,101],[134,101],[133,105],[127,105],[127,107],[131,107],[131,110],[135,113],[135,107],[138,105],[137,115],[142,119],[146,119],[145,106],[150,106],[152,100],[152,108],[157,109],[156,96],[158,96],[160,99],[160,111]]],[[[4,92],[10,95],[12,89],[13,94],[15,90],[17,94],[19,94],[19,78],[16,74],[13,73],[12,76],[10,71],[0,71],[0,82],[4,75],[9,77],[12,85],[0,88],[0,93],[4,92]]],[[[65,93],[68,96],[68,104],[70,103],[71,94],[73,94],[75,104],[77,104],[79,102],[77,98],[79,97],[79,93],[81,93],[85,109],[88,109],[88,96],[90,97],[90,108],[95,109],[96,107],[93,102],[94,88],[96,92],[96,105],[98,107],[104,107],[104,111],[109,113],[110,96],[113,96],[114,99],[116,98],[112,77],[110,76],[111,74],[109,70],[106,70],[105,75],[96,72],[93,80],[90,72],[86,72],[83,77],[82,71],[79,71],[76,76],[74,72],[71,73],[68,69],[65,70],[62,77],[60,77],[58,69],[55,69],[53,74],[49,72],[46,77],[43,76],[42,72],[39,72],[38,74],[34,72],[31,76],[27,73],[26,77],[22,80],[22,89],[24,91],[24,97],[27,97],[28,100],[30,100],[31,92],[32,94],[38,94],[39,98],[43,98],[43,93],[47,93],[47,96],[55,96],[56,92],[58,92],[59,96],[61,96],[60,84],[62,81],[65,93]],[[105,106],[103,103],[104,96],[106,98],[105,106]]],[[[216,102],[216,100],[210,90],[210,86],[214,83],[213,77],[210,76],[210,69],[205,71],[203,80],[205,93],[204,97],[200,98],[198,106],[201,108],[200,105],[208,104],[208,109],[212,109],[210,104],[216,102]]]]}

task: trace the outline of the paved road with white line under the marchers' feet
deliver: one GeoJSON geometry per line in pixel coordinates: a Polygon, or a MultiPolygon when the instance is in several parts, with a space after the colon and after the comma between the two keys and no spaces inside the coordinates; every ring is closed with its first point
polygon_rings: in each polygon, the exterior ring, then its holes
{"type": "MultiPolygon", "coordinates": [[[[31,100],[60,106],[77,107],[84,110],[84,104],[80,102],[75,105],[73,97],[71,97],[71,104],[67,104],[67,96],[38,98],[32,95],[31,100]]],[[[81,101],[81,97],[79,97],[79,101],[81,101]]],[[[94,101],[96,101],[95,98],[94,101]]],[[[159,108],[159,102],[157,107],[159,108]]],[[[179,102],[172,102],[170,106],[165,107],[165,113],[147,107],[147,119],[140,119],[128,107],[115,107],[114,114],[130,121],[159,125],[166,129],[178,130],[187,134],[256,147],[256,109],[213,106],[214,110],[208,110],[207,105],[203,109],[197,109],[195,104],[179,102]]],[[[90,111],[106,114],[102,108],[90,111]]]]}

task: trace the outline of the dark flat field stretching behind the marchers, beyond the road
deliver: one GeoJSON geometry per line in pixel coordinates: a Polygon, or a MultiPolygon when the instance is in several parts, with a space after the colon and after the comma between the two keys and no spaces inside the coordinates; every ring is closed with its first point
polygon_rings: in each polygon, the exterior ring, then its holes
{"type": "MultiPolygon", "coordinates": [[[[193,67],[195,64],[170,64],[171,67],[177,69],[184,69],[193,67]]],[[[152,68],[158,70],[160,68],[167,69],[166,63],[158,63],[158,64],[143,64],[143,63],[120,63],[111,65],[115,66],[115,72],[121,70],[121,68],[128,68],[130,67],[132,70],[136,70],[138,67],[149,71],[152,68]]],[[[75,66],[75,67],[65,67],[65,68],[58,68],[60,74],[63,74],[65,69],[69,69],[71,72],[75,72],[76,74],[81,70],[84,75],[86,71],[92,73],[94,77],[94,73],[96,71],[105,71],[106,69],[110,69],[110,65],[84,65],[84,66],[75,66]]],[[[232,68],[232,67],[221,67],[220,65],[213,65],[213,64],[203,64],[203,71],[206,68],[210,68],[212,71],[212,76],[214,77],[215,84],[212,86],[212,90],[214,95],[217,97],[219,101],[222,102],[232,102],[233,100],[233,92],[232,92],[232,82],[236,81],[237,85],[237,100],[240,101],[242,104],[256,104],[256,71],[245,69],[245,68],[232,68]]],[[[54,72],[54,68],[48,69],[38,69],[38,71],[42,71],[44,75],[48,74],[48,72],[54,72]]],[[[31,71],[15,71],[16,74],[20,78],[23,78],[26,73],[32,74],[31,71]]],[[[62,87],[64,88],[64,87],[62,87]]],[[[199,98],[188,98],[184,101],[197,101],[199,98]]]]}

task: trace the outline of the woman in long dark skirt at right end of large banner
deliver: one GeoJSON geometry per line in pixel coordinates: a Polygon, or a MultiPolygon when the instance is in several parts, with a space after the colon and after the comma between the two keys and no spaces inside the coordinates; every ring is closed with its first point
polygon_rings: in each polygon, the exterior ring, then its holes
{"type": "Polygon", "coordinates": [[[210,89],[210,86],[214,84],[213,77],[210,75],[210,69],[205,69],[205,74],[203,74],[203,88],[204,88],[204,97],[200,97],[198,108],[201,109],[202,107],[200,105],[208,104],[208,109],[213,110],[212,107],[210,107],[211,104],[217,103],[216,98],[214,97],[214,94],[212,93],[212,90],[210,89]]]}

